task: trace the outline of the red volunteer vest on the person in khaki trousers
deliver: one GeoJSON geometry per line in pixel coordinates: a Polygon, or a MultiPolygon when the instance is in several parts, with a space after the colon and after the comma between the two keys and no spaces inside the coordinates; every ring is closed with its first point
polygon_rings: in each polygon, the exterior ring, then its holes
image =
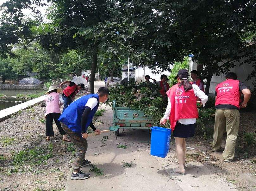
{"type": "Polygon", "coordinates": [[[217,97],[215,106],[220,104],[234,105],[240,109],[239,80],[228,79],[215,88],[217,97]]]}

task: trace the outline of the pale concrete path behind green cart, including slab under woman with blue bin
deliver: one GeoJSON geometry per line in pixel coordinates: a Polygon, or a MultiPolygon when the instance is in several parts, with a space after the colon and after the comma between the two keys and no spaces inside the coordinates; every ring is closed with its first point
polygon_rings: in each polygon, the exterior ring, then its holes
{"type": "MultiPolygon", "coordinates": [[[[101,105],[106,112],[100,116],[95,126],[101,130],[112,124],[113,112],[110,107],[101,105]]],[[[220,176],[222,172],[215,167],[200,162],[190,162],[186,168],[186,175],[174,173],[178,166],[174,151],[174,140],[170,145],[170,152],[166,158],[150,155],[150,134],[147,130],[120,130],[121,136],[115,137],[113,132],[90,137],[86,159],[92,164],[98,163],[98,168],[104,169],[104,176],[95,177],[89,172],[91,167],[82,168],[91,177],[87,180],[71,180],[71,171],[67,177],[67,191],[82,190],[234,190],[236,187],[220,176]],[[103,136],[108,139],[102,142],[103,136]],[[127,145],[126,149],[117,148],[117,144],[127,145]],[[123,162],[133,162],[132,167],[123,167],[123,162]]],[[[189,145],[188,145],[189,146],[189,145]]],[[[72,156],[71,156],[72,158],[72,156]]],[[[72,169],[71,169],[72,170],[72,169]]],[[[228,173],[228,172],[224,172],[228,173]]]]}

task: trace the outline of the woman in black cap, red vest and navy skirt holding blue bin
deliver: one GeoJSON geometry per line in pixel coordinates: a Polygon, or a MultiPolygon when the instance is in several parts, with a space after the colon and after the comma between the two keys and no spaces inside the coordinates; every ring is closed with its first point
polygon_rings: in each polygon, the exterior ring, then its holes
{"type": "Polygon", "coordinates": [[[173,171],[183,175],[185,174],[185,138],[194,136],[198,118],[197,97],[201,99],[198,103],[203,104],[203,107],[208,100],[208,96],[196,84],[191,84],[188,81],[188,76],[188,70],[181,69],[178,71],[175,77],[178,84],[166,92],[168,105],[164,117],[160,120],[160,124],[164,125],[169,119],[179,162],[178,168],[173,169],[173,171]]]}

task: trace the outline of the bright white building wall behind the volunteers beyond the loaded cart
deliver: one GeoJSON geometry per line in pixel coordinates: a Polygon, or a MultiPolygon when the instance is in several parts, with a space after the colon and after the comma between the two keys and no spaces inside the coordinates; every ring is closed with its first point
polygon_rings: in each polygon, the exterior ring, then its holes
{"type": "MultiPolygon", "coordinates": [[[[153,78],[156,81],[160,81],[160,76],[162,74],[166,74],[166,76],[168,77],[171,74],[171,72],[163,71],[159,74],[154,74],[151,69],[149,69],[148,67],[145,67],[145,76],[149,75],[150,78],[153,78]]],[[[140,82],[140,80],[142,80],[142,82],[144,82],[145,76],[144,76],[144,70],[142,67],[136,68],[136,70],[135,70],[135,81],[136,82],[140,82]]],[[[151,79],[149,81],[153,82],[153,80],[151,80],[151,79]]]]}

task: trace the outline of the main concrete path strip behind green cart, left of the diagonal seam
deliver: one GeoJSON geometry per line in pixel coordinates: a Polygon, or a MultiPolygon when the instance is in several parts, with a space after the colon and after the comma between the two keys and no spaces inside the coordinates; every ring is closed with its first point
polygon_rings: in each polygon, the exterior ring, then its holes
{"type": "MultiPolygon", "coordinates": [[[[109,128],[109,124],[112,124],[113,113],[110,107],[104,105],[101,107],[105,108],[106,112],[97,119],[98,122],[95,125],[105,130],[109,128]]],[[[87,139],[88,150],[85,158],[92,164],[98,163],[98,168],[104,168],[104,176],[94,177],[95,173],[89,172],[91,167],[87,166],[82,168],[82,171],[91,175],[89,179],[71,180],[70,171],[66,182],[67,191],[182,190],[170,179],[162,165],[150,155],[148,131],[127,130],[126,135],[123,132],[120,133],[122,136],[117,137],[117,140],[113,132],[87,139]],[[102,143],[103,136],[109,138],[102,143]],[[117,148],[117,143],[127,145],[127,148],[117,148]],[[124,161],[133,162],[132,167],[123,167],[124,161]]]]}

